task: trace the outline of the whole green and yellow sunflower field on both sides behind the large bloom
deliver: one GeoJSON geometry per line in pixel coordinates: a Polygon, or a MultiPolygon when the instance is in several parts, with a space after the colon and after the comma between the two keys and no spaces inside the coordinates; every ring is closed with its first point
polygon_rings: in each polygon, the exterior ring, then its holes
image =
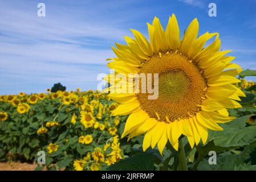
{"type": "MultiPolygon", "coordinates": [[[[237,119],[210,131],[208,142],[190,148],[185,142],[190,169],[255,169],[255,83],[241,79],[246,93],[242,108],[230,109],[237,119]],[[208,164],[208,152],[218,152],[218,164],[208,164]],[[199,163],[199,162],[201,163],[199,163]],[[195,168],[196,167],[196,168],[195,168]]],[[[121,139],[128,116],[113,117],[117,103],[108,94],[88,90],[0,97],[0,159],[37,163],[38,152],[46,164],[36,170],[176,169],[176,151],[167,144],[142,151],[143,136],[121,139]]]]}

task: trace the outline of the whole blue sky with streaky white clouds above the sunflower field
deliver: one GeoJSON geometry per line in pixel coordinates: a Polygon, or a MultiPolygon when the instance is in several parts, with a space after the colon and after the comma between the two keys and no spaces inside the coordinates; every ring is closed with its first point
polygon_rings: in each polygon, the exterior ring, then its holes
{"type": "Polygon", "coordinates": [[[200,34],[220,32],[222,49],[235,63],[256,69],[256,0],[243,1],[22,1],[0,2],[0,94],[44,92],[56,82],[67,90],[96,89],[99,73],[109,73],[111,46],[147,34],[154,16],[165,27],[176,14],[181,31],[198,18],[200,34]],[[46,17],[37,5],[46,5],[46,17]],[[208,5],[217,5],[217,17],[208,5]]]}

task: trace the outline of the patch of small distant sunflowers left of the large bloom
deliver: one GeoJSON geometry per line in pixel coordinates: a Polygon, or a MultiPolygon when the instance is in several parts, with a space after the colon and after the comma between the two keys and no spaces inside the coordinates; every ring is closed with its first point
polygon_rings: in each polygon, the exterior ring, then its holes
{"type": "MultiPolygon", "coordinates": [[[[1,160],[36,161],[46,152],[47,169],[99,170],[124,158],[117,104],[107,94],[62,92],[0,97],[1,160]]],[[[40,169],[40,166],[38,168],[40,169]]]]}

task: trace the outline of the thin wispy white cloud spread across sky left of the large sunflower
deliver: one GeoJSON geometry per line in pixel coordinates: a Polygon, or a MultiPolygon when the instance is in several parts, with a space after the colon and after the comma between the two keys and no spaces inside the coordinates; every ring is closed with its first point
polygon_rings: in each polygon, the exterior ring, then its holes
{"type": "Polygon", "coordinates": [[[30,92],[32,85],[55,82],[70,89],[94,82],[96,89],[97,74],[109,72],[105,59],[114,56],[111,46],[131,35],[125,26],[135,16],[123,12],[116,19],[107,11],[131,3],[86,1],[86,6],[84,1],[45,1],[46,17],[39,18],[36,3],[1,1],[0,77],[5,89],[0,92],[17,93],[19,88],[30,92]],[[21,87],[19,81],[30,83],[30,88],[21,87]]]}

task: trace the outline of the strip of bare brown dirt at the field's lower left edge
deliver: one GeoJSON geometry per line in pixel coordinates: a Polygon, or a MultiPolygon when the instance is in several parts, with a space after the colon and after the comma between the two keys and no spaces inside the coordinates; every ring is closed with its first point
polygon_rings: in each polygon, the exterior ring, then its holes
{"type": "Polygon", "coordinates": [[[36,164],[0,162],[0,171],[34,171],[36,164]]]}

